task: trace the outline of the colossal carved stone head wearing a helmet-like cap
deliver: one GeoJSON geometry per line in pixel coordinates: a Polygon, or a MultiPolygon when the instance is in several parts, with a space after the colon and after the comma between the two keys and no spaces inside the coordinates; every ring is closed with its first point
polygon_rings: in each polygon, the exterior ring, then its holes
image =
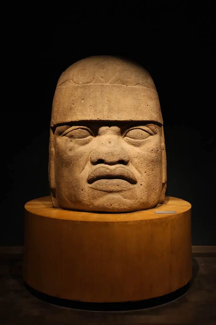
{"type": "Polygon", "coordinates": [[[162,203],[166,153],[150,74],[109,56],[72,64],[55,90],[49,153],[55,208],[129,212],[162,203]]]}

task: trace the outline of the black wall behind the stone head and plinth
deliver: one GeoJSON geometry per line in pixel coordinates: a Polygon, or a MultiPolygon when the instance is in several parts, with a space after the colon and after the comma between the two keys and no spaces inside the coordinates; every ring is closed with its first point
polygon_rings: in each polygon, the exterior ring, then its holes
{"type": "Polygon", "coordinates": [[[23,244],[25,202],[49,195],[55,86],[69,65],[91,55],[123,56],[149,70],[164,120],[166,194],[192,204],[193,245],[216,245],[212,11],[211,1],[121,1],[32,6],[18,15],[1,113],[0,245],[23,244]]]}

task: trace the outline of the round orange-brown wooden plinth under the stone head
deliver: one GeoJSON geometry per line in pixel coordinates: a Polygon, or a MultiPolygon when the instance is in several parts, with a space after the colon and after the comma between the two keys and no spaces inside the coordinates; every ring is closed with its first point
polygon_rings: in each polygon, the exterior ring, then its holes
{"type": "Polygon", "coordinates": [[[25,209],[24,279],[40,292],[83,302],[137,301],[191,279],[186,201],[166,197],[150,210],[101,214],[54,209],[43,197],[25,209]]]}

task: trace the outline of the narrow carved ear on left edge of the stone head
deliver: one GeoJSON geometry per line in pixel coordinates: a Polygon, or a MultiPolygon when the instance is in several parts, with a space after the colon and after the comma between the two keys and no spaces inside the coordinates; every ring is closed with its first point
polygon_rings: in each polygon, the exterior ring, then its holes
{"type": "Polygon", "coordinates": [[[49,183],[52,196],[52,202],[55,206],[55,150],[54,150],[54,134],[50,129],[50,142],[49,142],[49,183]]]}

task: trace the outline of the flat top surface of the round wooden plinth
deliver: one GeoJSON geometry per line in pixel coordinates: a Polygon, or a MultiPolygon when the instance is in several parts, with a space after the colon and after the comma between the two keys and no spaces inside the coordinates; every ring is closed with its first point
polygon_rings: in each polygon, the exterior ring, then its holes
{"type": "Polygon", "coordinates": [[[73,221],[94,221],[94,222],[124,222],[159,219],[165,217],[174,217],[177,214],[184,213],[191,209],[191,204],[185,200],[172,196],[165,196],[165,201],[156,207],[125,213],[98,213],[75,210],[64,210],[54,208],[51,196],[45,196],[28,201],[25,209],[33,214],[53,219],[73,220],[73,221]],[[175,211],[176,213],[155,214],[155,211],[175,211]]]}

